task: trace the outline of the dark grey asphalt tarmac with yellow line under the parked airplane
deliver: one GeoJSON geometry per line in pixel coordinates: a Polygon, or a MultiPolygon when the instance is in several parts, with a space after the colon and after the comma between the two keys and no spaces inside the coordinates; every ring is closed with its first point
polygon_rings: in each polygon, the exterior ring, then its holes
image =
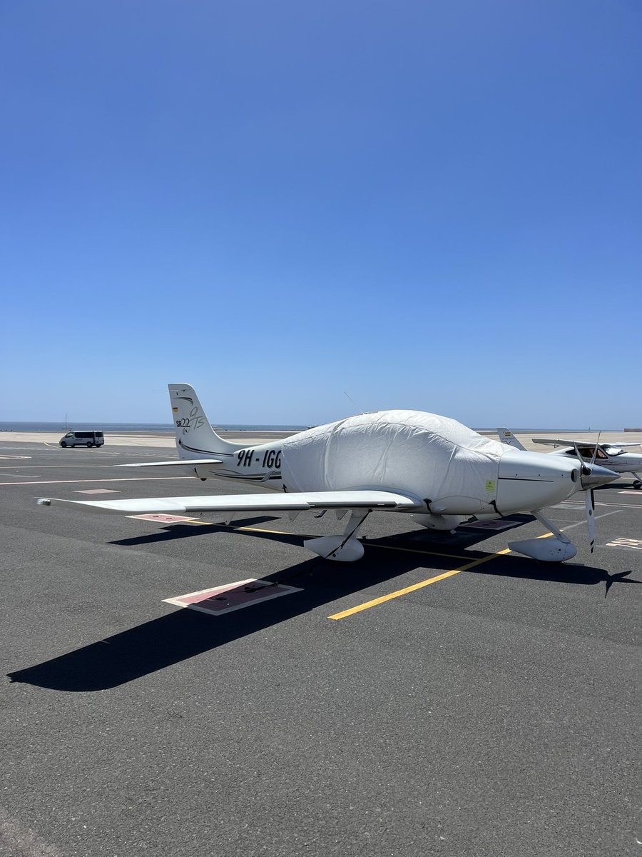
{"type": "Polygon", "coordinates": [[[451,536],[373,513],[341,564],[302,548],[342,532],[330,512],[36,506],[247,490],[113,470],[174,458],[139,441],[0,436],[2,857],[642,853],[631,479],[596,491],[593,554],[583,495],[550,510],[579,548],[562,566],[506,553],[543,534],[527,516],[451,536]],[[296,591],[164,600],[247,578],[296,591]]]}

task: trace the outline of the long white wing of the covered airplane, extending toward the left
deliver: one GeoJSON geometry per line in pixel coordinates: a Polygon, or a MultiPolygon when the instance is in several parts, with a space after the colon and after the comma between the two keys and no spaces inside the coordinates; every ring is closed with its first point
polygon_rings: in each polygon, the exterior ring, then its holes
{"type": "Polygon", "coordinates": [[[292,494],[223,494],[203,497],[145,497],[134,500],[58,500],[39,497],[39,506],[80,506],[86,512],[121,515],[166,512],[306,512],[309,509],[425,509],[413,494],[370,489],[354,491],[300,491],[292,494]]]}

